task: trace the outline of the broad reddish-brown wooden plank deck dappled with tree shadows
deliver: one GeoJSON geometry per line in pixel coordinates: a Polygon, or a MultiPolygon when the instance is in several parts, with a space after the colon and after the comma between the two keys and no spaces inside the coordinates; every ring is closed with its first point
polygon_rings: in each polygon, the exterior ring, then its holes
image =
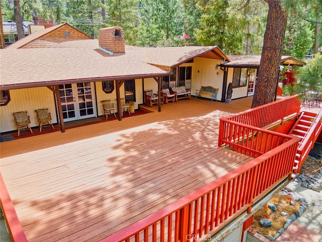
{"type": "Polygon", "coordinates": [[[180,100],[1,143],[1,173],[28,240],[99,241],[249,162],[217,144],[219,117],[251,101],[180,100]]]}

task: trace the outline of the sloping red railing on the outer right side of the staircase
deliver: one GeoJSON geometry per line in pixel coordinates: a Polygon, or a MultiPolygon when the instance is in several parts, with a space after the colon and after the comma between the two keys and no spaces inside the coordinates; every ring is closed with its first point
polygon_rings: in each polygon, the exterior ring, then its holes
{"type": "Polygon", "coordinates": [[[322,131],[322,108],[315,117],[312,117],[311,122],[312,124],[308,132],[301,139],[297,149],[298,168],[294,170],[295,173],[299,172],[309,151],[313,148],[319,133],[322,131]]]}

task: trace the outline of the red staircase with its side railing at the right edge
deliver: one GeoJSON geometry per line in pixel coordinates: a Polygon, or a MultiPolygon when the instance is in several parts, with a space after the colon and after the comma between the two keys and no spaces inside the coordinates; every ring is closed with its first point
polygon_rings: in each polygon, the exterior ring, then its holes
{"type": "Polygon", "coordinates": [[[293,171],[298,173],[321,129],[320,115],[316,113],[301,112],[289,135],[301,138],[295,156],[293,171]],[[309,137],[308,137],[309,136],[309,137]]]}

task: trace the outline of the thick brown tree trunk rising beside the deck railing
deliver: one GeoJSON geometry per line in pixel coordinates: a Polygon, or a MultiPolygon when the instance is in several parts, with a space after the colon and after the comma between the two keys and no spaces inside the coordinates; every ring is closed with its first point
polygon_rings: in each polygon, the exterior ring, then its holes
{"type": "Polygon", "coordinates": [[[281,7],[280,1],[266,2],[268,2],[267,24],[252,107],[273,102],[275,99],[287,24],[287,12],[281,7]]]}

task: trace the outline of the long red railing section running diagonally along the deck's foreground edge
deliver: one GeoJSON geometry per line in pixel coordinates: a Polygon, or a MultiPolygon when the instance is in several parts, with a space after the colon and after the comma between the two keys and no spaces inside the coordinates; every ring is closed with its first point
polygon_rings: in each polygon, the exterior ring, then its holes
{"type": "Polygon", "coordinates": [[[196,241],[219,231],[292,173],[292,138],[188,196],[101,240],[196,241]],[[277,169],[278,167],[278,169],[277,169]]]}

